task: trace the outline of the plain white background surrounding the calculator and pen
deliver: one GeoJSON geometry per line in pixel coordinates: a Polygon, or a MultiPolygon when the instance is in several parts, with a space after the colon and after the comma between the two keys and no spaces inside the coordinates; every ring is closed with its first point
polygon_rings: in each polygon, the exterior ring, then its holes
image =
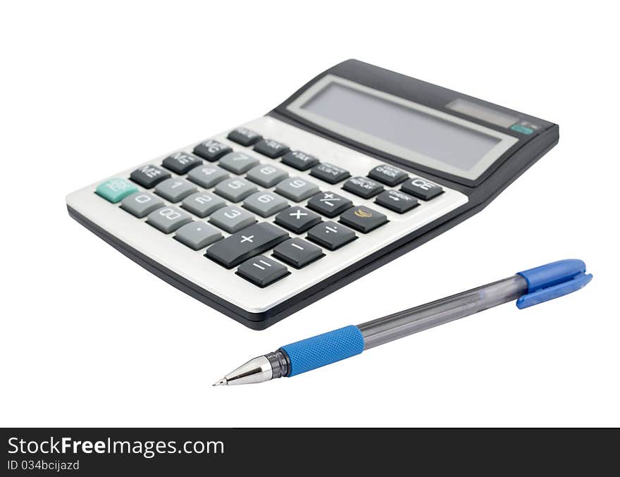
{"type": "Polygon", "coordinates": [[[0,424],[620,426],[607,4],[4,2],[0,424]],[[68,217],[68,192],[260,116],[347,58],[551,120],[559,145],[478,215],[263,332],[68,217]],[[564,258],[595,275],[569,297],[211,387],[287,342],[564,258]]]}

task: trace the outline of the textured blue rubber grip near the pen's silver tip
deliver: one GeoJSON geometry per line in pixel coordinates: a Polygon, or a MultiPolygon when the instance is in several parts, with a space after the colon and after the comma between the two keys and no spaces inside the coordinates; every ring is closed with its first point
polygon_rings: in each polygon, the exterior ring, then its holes
{"type": "Polygon", "coordinates": [[[364,351],[364,336],[356,326],[345,326],[285,345],[280,349],[290,359],[290,371],[287,376],[295,376],[360,354],[364,351]]]}

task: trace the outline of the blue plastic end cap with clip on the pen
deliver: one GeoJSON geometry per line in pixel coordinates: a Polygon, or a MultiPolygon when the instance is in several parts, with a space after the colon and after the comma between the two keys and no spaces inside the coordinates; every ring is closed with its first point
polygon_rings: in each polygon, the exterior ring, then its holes
{"type": "Polygon", "coordinates": [[[592,274],[585,273],[585,263],[576,259],[554,261],[519,272],[518,275],[528,283],[526,295],[516,300],[519,309],[576,292],[592,280],[592,274]]]}

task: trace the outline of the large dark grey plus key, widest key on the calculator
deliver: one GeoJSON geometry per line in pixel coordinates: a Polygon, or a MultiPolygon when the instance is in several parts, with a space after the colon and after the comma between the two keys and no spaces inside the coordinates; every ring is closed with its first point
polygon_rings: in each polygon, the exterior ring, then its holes
{"type": "Polygon", "coordinates": [[[266,252],[286,240],[288,234],[268,222],[255,223],[206,249],[205,256],[226,268],[266,252]]]}

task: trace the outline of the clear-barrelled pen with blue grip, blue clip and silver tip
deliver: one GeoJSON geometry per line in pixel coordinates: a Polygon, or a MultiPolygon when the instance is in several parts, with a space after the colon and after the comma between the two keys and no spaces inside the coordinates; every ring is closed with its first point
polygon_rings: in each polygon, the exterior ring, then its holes
{"type": "Polygon", "coordinates": [[[585,273],[583,261],[555,261],[435,302],[285,345],[251,359],[213,385],[296,376],[514,299],[519,309],[547,302],[585,287],[590,280],[592,275],[585,273]]]}

